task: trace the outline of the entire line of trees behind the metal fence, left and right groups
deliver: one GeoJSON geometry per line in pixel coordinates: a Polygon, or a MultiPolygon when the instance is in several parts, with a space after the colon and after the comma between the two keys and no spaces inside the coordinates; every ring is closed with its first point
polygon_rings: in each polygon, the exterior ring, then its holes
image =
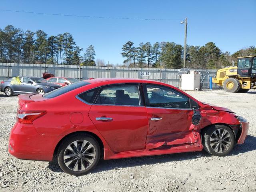
{"type": "MultiPolygon", "coordinates": [[[[0,62],[113,66],[104,60],[95,60],[93,45],[86,48],[83,56],[82,52],[83,48],[77,46],[68,32],[48,36],[43,30],[24,32],[12,25],[0,29],[0,62]]],[[[134,46],[128,41],[122,47],[124,62],[116,66],[182,68],[183,52],[183,46],[174,42],[141,42],[134,46]]],[[[186,67],[218,69],[232,65],[236,57],[256,55],[256,47],[249,46],[230,54],[222,52],[214,42],[208,42],[204,46],[187,45],[186,53],[186,67]]]]}

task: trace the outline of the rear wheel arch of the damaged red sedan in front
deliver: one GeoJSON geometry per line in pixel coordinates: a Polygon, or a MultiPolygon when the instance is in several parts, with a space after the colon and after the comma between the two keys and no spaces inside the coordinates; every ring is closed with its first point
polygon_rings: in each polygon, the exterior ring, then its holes
{"type": "Polygon", "coordinates": [[[72,136],[72,135],[75,135],[75,134],[79,134],[79,133],[86,133],[86,134],[89,134],[89,135],[93,136],[97,140],[98,144],[100,145],[100,158],[102,158],[104,156],[104,144],[103,144],[102,140],[100,139],[100,137],[98,135],[96,135],[95,133],[89,132],[89,131],[76,131],[76,132],[72,132],[70,134],[65,135],[58,142],[58,144],[55,146],[55,149],[54,149],[52,161],[55,161],[55,162],[57,161],[57,158],[58,158],[57,157],[57,155],[58,155],[58,148],[59,148],[60,144],[62,143],[62,141],[64,139],[66,139],[67,137],[69,137],[69,136],[72,136]]]}

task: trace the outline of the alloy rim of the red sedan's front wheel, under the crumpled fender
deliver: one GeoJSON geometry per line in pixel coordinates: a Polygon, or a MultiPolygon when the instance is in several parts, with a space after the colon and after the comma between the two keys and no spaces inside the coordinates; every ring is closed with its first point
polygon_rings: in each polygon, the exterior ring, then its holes
{"type": "Polygon", "coordinates": [[[210,146],[217,153],[223,153],[231,146],[230,133],[225,129],[215,130],[210,137],[210,146]]]}

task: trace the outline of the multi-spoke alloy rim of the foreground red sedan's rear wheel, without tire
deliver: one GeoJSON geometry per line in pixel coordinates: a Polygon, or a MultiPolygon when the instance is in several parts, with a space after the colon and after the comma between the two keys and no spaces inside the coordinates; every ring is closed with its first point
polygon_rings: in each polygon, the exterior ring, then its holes
{"type": "Polygon", "coordinates": [[[83,171],[95,160],[94,146],[86,140],[76,140],[70,143],[64,151],[64,163],[73,171],[83,171]]]}

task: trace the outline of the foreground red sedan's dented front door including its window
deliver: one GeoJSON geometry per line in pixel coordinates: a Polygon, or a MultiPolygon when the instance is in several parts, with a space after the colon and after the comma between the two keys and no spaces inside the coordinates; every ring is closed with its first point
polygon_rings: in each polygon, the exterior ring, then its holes
{"type": "Polygon", "coordinates": [[[146,148],[197,142],[190,99],[167,86],[144,84],[149,129],[146,148]]]}

